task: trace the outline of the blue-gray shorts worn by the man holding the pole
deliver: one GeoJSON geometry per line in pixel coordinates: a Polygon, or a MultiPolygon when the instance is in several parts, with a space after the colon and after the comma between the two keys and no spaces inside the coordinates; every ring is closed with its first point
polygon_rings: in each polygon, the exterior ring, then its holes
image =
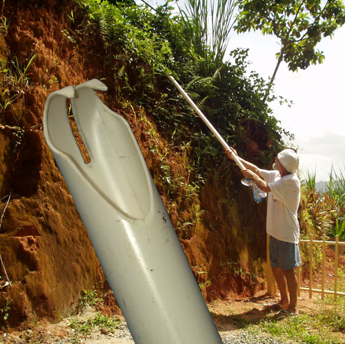
{"type": "Polygon", "coordinates": [[[282,270],[293,269],[301,265],[301,254],[298,244],[285,242],[270,237],[270,266],[282,270]]]}

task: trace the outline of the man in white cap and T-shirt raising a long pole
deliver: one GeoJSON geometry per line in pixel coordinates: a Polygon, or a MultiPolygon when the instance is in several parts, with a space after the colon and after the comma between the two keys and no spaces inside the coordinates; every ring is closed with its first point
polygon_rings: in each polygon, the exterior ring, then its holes
{"type": "MultiPolygon", "coordinates": [[[[233,154],[237,155],[233,148],[226,153],[233,160],[233,154]]],[[[281,298],[274,308],[280,309],[279,316],[297,315],[295,267],[301,265],[297,220],[300,182],[295,172],[299,158],[292,149],[284,149],[275,157],[273,171],[259,169],[255,164],[238,158],[246,167],[242,171],[244,177],[252,179],[259,189],[268,193],[266,231],[270,235],[270,266],[281,298]]]]}

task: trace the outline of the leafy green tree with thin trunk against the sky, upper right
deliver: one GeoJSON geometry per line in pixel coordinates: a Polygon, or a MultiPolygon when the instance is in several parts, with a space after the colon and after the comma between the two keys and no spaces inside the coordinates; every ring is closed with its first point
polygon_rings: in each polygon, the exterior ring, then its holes
{"type": "Polygon", "coordinates": [[[246,0],[239,3],[237,32],[261,30],[280,41],[277,66],[270,79],[264,102],[270,93],[277,70],[286,61],[289,70],[321,64],[323,52],[316,49],[322,37],[332,36],[345,23],[342,0],[246,0]]]}

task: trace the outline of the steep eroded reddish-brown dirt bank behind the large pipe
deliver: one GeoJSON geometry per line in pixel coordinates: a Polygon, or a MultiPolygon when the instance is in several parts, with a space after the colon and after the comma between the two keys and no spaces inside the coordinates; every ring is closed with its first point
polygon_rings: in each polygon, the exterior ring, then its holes
{"type": "MultiPolygon", "coordinates": [[[[21,78],[18,74],[0,73],[0,251],[12,283],[1,289],[0,306],[5,307],[10,300],[12,303],[8,317],[2,316],[0,325],[23,329],[41,319],[60,321],[76,309],[83,290],[92,289],[97,289],[105,300],[106,312],[119,312],[88,233],[44,140],[43,109],[48,95],[59,88],[93,78],[106,80],[109,91],[101,97],[130,122],[159,187],[161,157],[149,149],[149,129],[155,124],[139,106],[132,110],[118,102],[113,70],[103,59],[106,54],[99,31],[95,27],[81,30],[83,12],[75,3],[6,0],[2,19],[6,23],[0,37],[2,71],[10,65],[13,69],[13,64],[18,64],[19,70],[29,61],[32,64],[21,78]],[[135,116],[133,111],[137,111],[135,116]]],[[[159,133],[159,128],[155,130],[159,133]]],[[[76,140],[80,140],[77,134],[76,140]]],[[[188,176],[181,154],[172,150],[163,133],[157,146],[168,152],[173,173],[188,176]]],[[[159,188],[168,205],[164,188],[159,188]]],[[[258,276],[264,267],[266,247],[265,205],[249,202],[250,193],[242,189],[237,193],[237,205],[228,206],[229,192],[224,188],[224,179],[211,176],[195,198],[198,207],[205,210],[202,221],[196,222],[188,235],[179,233],[208,301],[237,298],[264,287],[258,276]]],[[[170,217],[176,228],[179,220],[188,222],[193,216],[179,210],[179,204],[175,209],[170,211],[170,217]]],[[[4,272],[1,267],[3,282],[4,272]]]]}

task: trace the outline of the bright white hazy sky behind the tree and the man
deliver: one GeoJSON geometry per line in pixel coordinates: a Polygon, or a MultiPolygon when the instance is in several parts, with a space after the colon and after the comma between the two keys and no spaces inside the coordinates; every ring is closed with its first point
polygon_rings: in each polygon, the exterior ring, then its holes
{"type": "MultiPolygon", "coordinates": [[[[146,1],[154,8],[165,2],[146,1]]],[[[279,102],[269,105],[280,126],[295,135],[295,140],[286,144],[298,149],[302,180],[308,178],[309,173],[315,174],[316,182],[327,182],[332,170],[333,176],[335,173],[345,177],[344,43],[345,26],[335,31],[332,39],[324,38],[317,45],[325,55],[322,64],[290,72],[287,64],[282,62],[275,78],[275,95],[292,101],[293,105],[282,106],[279,102]]],[[[234,32],[228,50],[235,48],[249,48],[249,69],[268,81],[277,64],[277,38],[253,31],[241,35],[234,32]]],[[[224,59],[227,61],[228,56],[224,59]]]]}

